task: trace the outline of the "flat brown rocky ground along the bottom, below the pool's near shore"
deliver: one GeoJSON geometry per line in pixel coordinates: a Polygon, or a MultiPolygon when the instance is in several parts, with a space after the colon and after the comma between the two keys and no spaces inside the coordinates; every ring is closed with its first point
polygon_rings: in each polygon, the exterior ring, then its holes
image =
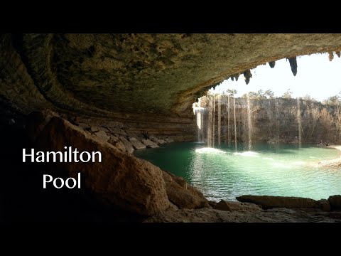
{"type": "Polygon", "coordinates": [[[274,208],[270,210],[215,210],[182,209],[173,212],[163,212],[147,218],[146,223],[341,223],[341,215],[325,213],[313,209],[296,210],[274,208]]]}

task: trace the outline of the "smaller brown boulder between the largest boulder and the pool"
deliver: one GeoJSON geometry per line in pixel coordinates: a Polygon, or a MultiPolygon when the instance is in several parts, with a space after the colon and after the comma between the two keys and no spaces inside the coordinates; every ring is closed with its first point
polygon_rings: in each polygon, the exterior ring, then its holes
{"type": "Polygon", "coordinates": [[[177,177],[163,171],[163,179],[166,182],[166,191],[169,201],[178,208],[210,208],[210,205],[202,195],[193,186],[190,186],[183,178],[177,177]]]}

